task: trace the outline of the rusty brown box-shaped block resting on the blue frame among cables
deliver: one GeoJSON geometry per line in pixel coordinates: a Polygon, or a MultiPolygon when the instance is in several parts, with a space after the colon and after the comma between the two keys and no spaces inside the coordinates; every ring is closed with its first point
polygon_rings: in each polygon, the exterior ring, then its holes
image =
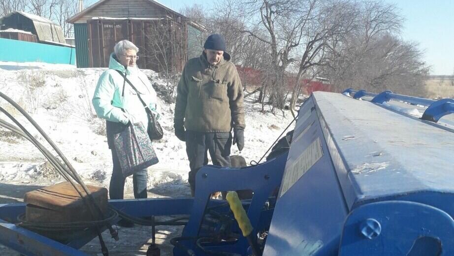
{"type": "MultiPolygon", "coordinates": [[[[94,218],[90,209],[84,202],[84,200],[88,201],[89,198],[80,185],[77,185],[77,187],[82,191],[84,199],[80,197],[69,182],[27,192],[24,197],[24,202],[27,203],[25,219],[29,222],[42,223],[93,221],[94,218]]],[[[97,205],[105,214],[107,212],[107,189],[95,186],[87,187],[97,205]]],[[[98,219],[97,215],[95,219],[98,219]]]]}

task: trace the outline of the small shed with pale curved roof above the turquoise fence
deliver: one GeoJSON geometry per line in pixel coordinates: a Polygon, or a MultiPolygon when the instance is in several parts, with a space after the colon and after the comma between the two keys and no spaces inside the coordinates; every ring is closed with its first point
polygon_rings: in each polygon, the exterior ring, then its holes
{"type": "MultiPolygon", "coordinates": [[[[46,18],[31,13],[13,11],[8,15],[2,17],[0,19],[0,23],[1,30],[14,29],[32,33],[36,36],[39,43],[66,44],[62,27],[46,18]]],[[[27,38],[27,36],[21,35],[21,38],[27,38]]],[[[28,39],[30,38],[27,38],[26,41],[29,41],[28,39]]]]}

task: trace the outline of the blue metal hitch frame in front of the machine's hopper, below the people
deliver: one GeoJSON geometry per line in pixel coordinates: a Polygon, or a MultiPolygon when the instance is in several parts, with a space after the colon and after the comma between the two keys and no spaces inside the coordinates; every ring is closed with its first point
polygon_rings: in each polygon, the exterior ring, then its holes
{"type": "MultiPolygon", "coordinates": [[[[245,208],[255,230],[269,226],[272,210],[263,210],[265,201],[272,191],[277,188],[282,179],[287,153],[256,166],[243,169],[205,166],[196,176],[198,184],[195,198],[154,198],[154,199],[127,199],[110,200],[109,204],[134,217],[162,216],[162,215],[190,215],[190,219],[183,231],[183,236],[197,236],[207,207],[223,206],[228,209],[224,200],[210,200],[209,195],[216,191],[231,191],[250,189],[254,191],[252,200],[245,202],[245,208]]],[[[33,231],[16,226],[17,216],[25,212],[24,203],[0,205],[0,244],[12,248],[24,255],[69,255],[83,256],[77,251],[90,242],[96,234],[87,232],[79,239],[68,244],[56,242],[33,231]]],[[[239,232],[239,229],[236,228],[239,232]]],[[[121,238],[120,238],[121,239],[121,238]]],[[[205,255],[195,247],[194,241],[184,242],[185,246],[205,255]]],[[[207,247],[209,250],[229,251],[242,255],[247,254],[249,244],[242,237],[234,243],[225,243],[207,247]]],[[[178,249],[174,255],[186,255],[178,249]]]]}

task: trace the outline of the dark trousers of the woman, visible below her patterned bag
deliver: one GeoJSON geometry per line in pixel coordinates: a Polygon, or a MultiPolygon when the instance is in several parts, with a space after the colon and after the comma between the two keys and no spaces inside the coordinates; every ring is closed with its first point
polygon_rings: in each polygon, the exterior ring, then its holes
{"type": "MultiPolygon", "coordinates": [[[[120,161],[118,160],[115,149],[112,149],[112,162],[113,170],[112,178],[110,178],[109,196],[110,199],[123,199],[126,178],[123,177],[120,161]]],[[[132,174],[132,185],[135,198],[147,198],[147,180],[147,169],[132,174]]]]}

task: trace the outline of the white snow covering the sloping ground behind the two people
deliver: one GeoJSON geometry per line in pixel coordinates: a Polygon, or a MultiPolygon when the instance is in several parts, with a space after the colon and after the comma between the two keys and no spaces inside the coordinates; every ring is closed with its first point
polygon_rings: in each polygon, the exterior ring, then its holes
{"type": "MultiPolygon", "coordinates": [[[[16,69],[10,70],[3,68],[10,65],[11,63],[0,63],[0,91],[31,113],[32,118],[56,143],[84,180],[96,180],[108,186],[112,173],[111,153],[105,135],[99,135],[104,130],[104,125],[93,117],[95,112],[91,109],[97,79],[105,69],[68,68],[66,65],[38,63],[20,64],[16,69]],[[31,66],[35,69],[29,69],[31,66]],[[42,87],[27,86],[30,83],[39,84],[39,81],[43,84],[42,87]],[[29,109],[32,104],[38,106],[36,111],[29,109]]],[[[152,83],[165,84],[156,72],[143,71],[152,83]]],[[[42,135],[25,122],[5,100],[0,100],[0,106],[21,123],[27,124],[25,127],[31,134],[48,145],[42,135]]],[[[164,138],[154,142],[160,162],[149,169],[149,188],[160,187],[178,193],[179,190],[187,189],[189,161],[186,147],[173,134],[174,104],[159,100],[158,106],[164,138]]],[[[240,153],[234,145],[231,155],[242,155],[249,163],[260,159],[292,121],[292,115],[289,111],[285,111],[285,117],[280,111],[276,115],[261,113],[261,105],[247,102],[245,108],[245,148],[240,153]]],[[[12,123],[3,114],[0,114],[0,118],[12,123]]],[[[48,149],[51,149],[50,146],[48,149]]],[[[43,164],[45,161],[30,142],[0,128],[1,183],[28,183],[43,178],[51,182],[57,181],[59,177],[48,173],[48,168],[43,164]]],[[[127,186],[132,186],[131,178],[127,179],[127,186]]]]}

